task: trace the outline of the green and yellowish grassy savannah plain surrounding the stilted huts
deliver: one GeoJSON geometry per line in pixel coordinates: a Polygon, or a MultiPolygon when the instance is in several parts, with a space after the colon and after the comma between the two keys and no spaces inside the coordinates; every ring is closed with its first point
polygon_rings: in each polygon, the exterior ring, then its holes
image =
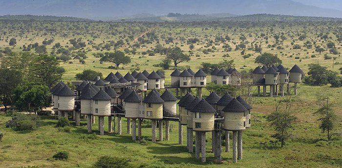
{"type": "MultiPolygon", "coordinates": [[[[116,72],[107,67],[113,65],[108,62],[100,64],[99,59],[92,55],[92,53],[101,52],[92,48],[92,45],[99,43],[108,43],[108,41],[118,41],[120,39],[127,39],[130,43],[134,38],[147,32],[151,28],[159,43],[164,47],[181,47],[185,53],[192,54],[190,62],[183,62],[179,64],[180,69],[191,67],[196,71],[202,62],[218,63],[223,59],[234,59],[235,68],[238,71],[254,69],[255,57],[259,55],[251,50],[247,50],[245,54],[252,54],[249,58],[244,59],[240,53],[242,50],[234,51],[235,45],[239,44],[241,35],[245,35],[248,41],[246,48],[249,48],[251,42],[261,44],[262,52],[269,52],[277,54],[287,68],[291,68],[294,64],[298,64],[302,70],[308,72],[308,64],[320,63],[328,67],[329,70],[339,72],[340,64],[335,64],[333,68],[333,59],[325,60],[324,54],[329,56],[336,56],[335,62],[341,62],[340,55],[329,54],[329,51],[322,52],[321,55],[315,52],[315,45],[312,49],[303,47],[303,43],[311,41],[316,45],[321,45],[327,50],[326,44],[328,41],[333,41],[339,52],[342,52],[341,43],[337,41],[336,34],[341,31],[341,22],[339,21],[284,21],[284,22],[197,22],[197,23],[108,23],[108,22],[49,22],[49,21],[18,21],[18,22],[2,22],[0,30],[6,31],[6,34],[1,34],[0,48],[9,46],[7,39],[15,37],[17,45],[12,51],[19,52],[20,46],[30,43],[38,42],[40,45],[42,41],[54,38],[52,45],[47,45],[48,53],[56,42],[60,42],[62,46],[67,44],[71,38],[82,37],[82,40],[87,43],[87,40],[92,40],[94,44],[87,44],[84,48],[88,56],[85,59],[85,64],[79,63],[77,59],[61,62],[60,65],[66,70],[63,75],[64,81],[75,80],[76,73],[82,72],[84,69],[92,69],[102,72],[104,77],[109,72],[116,72]],[[268,39],[261,37],[264,33],[268,39]],[[281,35],[283,33],[286,39],[279,41],[276,47],[268,47],[268,44],[276,42],[274,35],[281,35]],[[251,34],[252,37],[249,36],[251,34]],[[306,39],[299,40],[298,37],[306,34],[306,39]],[[97,37],[94,37],[94,36],[97,37]],[[217,42],[213,53],[204,54],[202,51],[207,49],[205,46],[210,40],[215,41],[215,36],[225,37],[228,35],[231,40],[225,42],[217,42]],[[321,39],[321,35],[327,35],[327,39],[321,39]],[[27,36],[27,37],[26,37],[27,36]],[[129,38],[131,36],[131,38],[129,38]],[[172,37],[173,42],[166,43],[166,39],[172,37]],[[184,37],[184,38],[183,38],[184,37]],[[331,37],[331,38],[330,38],[331,37]],[[194,44],[194,49],[189,49],[187,39],[198,38],[199,42],[194,44]],[[268,41],[268,43],[266,43],[268,41]],[[299,44],[301,49],[292,49],[291,42],[299,44]],[[232,47],[231,52],[224,52],[222,45],[226,43],[232,47]],[[277,49],[280,45],[284,49],[277,49]],[[190,53],[193,52],[193,53],[190,53]],[[230,57],[222,57],[229,54],[230,57]],[[196,56],[198,55],[198,56],[196,56]],[[316,57],[311,57],[315,55],[316,57]],[[299,56],[299,59],[295,59],[299,56]]],[[[144,36],[145,39],[149,37],[144,36]]],[[[125,43],[126,43],[125,42],[125,43]]],[[[134,44],[135,42],[133,42],[134,44]]],[[[149,72],[153,70],[162,69],[155,67],[164,56],[155,54],[155,56],[142,55],[142,52],[153,50],[157,43],[153,39],[151,44],[140,44],[136,48],[137,53],[127,54],[131,57],[131,63],[128,65],[121,65],[118,70],[121,74],[126,74],[134,69],[144,69],[149,72]],[[145,46],[143,46],[145,45],[145,46]]],[[[254,44],[253,44],[254,45],[254,44]]],[[[10,46],[12,48],[12,46],[10,46]]],[[[121,49],[125,46],[118,46],[116,49],[121,49]]],[[[126,45],[129,50],[132,50],[131,45],[126,45]]],[[[124,48],[121,51],[124,51],[124,48]]],[[[212,46],[208,47],[212,48],[212,46]]],[[[34,49],[32,50],[34,52],[34,49]]],[[[111,48],[111,52],[114,47],[111,48]]],[[[103,51],[105,52],[105,50],[103,51]]],[[[171,69],[173,65],[171,66],[171,69]]],[[[171,83],[172,70],[165,70],[166,84],[171,83]]],[[[210,81],[208,76],[207,81],[210,81]]],[[[209,93],[203,90],[204,96],[209,93]]],[[[253,89],[255,92],[255,88],[253,89]]],[[[326,141],[325,133],[321,133],[319,129],[318,116],[313,112],[320,108],[316,96],[318,94],[328,94],[333,102],[333,108],[338,115],[335,122],[335,129],[333,132],[340,132],[342,130],[342,112],[341,112],[341,88],[330,88],[329,86],[308,86],[299,84],[299,95],[295,97],[291,112],[293,112],[298,120],[295,124],[295,129],[292,131],[291,139],[289,139],[283,149],[280,149],[280,144],[273,144],[270,141],[275,139],[270,135],[273,133],[272,129],[266,122],[266,115],[275,110],[275,99],[277,101],[283,99],[281,97],[254,97],[252,110],[252,127],[244,131],[243,134],[243,159],[238,163],[232,162],[232,152],[222,152],[223,164],[214,164],[214,154],[211,153],[211,134],[207,134],[207,163],[203,164],[200,160],[194,159],[194,153],[188,153],[186,149],[186,129],[183,127],[183,145],[177,145],[178,131],[177,123],[171,123],[171,140],[157,142],[155,144],[150,141],[150,125],[145,123],[143,128],[143,136],[147,138],[147,143],[137,143],[131,140],[131,135],[126,133],[126,120],[123,122],[123,135],[106,134],[104,136],[92,136],[86,132],[86,121],[82,120],[82,126],[73,126],[71,133],[59,132],[55,128],[57,120],[51,117],[42,117],[40,127],[32,132],[15,132],[5,128],[5,122],[10,117],[0,115],[0,130],[4,134],[4,138],[0,142],[0,167],[63,167],[63,168],[88,168],[92,166],[98,157],[102,155],[119,155],[130,158],[132,167],[307,167],[307,168],[339,168],[342,167],[342,139],[334,136],[330,142],[326,141]],[[70,153],[68,161],[55,161],[51,156],[58,150],[66,150],[70,153]]],[[[292,97],[294,98],[294,97],[292,97]]],[[[283,106],[281,106],[283,109],[283,106]]],[[[105,121],[105,124],[107,122],[105,121]]],[[[105,125],[105,131],[106,131],[105,125]]],[[[96,124],[93,126],[93,131],[96,131],[96,124]]],[[[165,133],[165,132],[164,132],[165,133]]],[[[165,136],[165,135],[164,135],[165,136]]]]}

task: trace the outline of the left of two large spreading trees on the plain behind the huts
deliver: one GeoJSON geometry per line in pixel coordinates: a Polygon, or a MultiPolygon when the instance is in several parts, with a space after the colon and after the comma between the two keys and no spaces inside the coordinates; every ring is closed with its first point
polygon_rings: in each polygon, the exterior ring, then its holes
{"type": "Polygon", "coordinates": [[[115,53],[105,53],[105,56],[100,59],[100,62],[112,62],[119,68],[120,64],[128,64],[130,57],[125,56],[125,53],[121,51],[116,51],[115,53]]]}

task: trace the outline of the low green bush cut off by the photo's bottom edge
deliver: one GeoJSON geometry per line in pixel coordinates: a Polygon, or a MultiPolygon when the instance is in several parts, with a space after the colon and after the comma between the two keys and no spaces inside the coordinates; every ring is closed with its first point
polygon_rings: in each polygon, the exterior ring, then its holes
{"type": "Polygon", "coordinates": [[[94,168],[129,168],[130,159],[118,156],[101,156],[94,164],[94,168]]]}

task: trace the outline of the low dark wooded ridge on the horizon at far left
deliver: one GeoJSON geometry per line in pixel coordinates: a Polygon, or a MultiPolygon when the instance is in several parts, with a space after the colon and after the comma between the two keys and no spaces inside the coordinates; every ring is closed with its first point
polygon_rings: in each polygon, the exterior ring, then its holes
{"type": "Polygon", "coordinates": [[[5,15],[0,19],[12,20],[51,20],[51,21],[95,21],[91,19],[75,18],[75,17],[58,17],[58,16],[35,16],[35,15],[5,15]]]}

